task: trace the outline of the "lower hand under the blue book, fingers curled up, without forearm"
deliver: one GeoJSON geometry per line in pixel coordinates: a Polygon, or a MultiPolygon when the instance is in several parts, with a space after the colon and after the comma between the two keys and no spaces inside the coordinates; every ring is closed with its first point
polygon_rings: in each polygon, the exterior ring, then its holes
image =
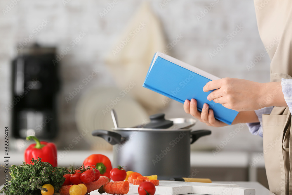
{"type": "Polygon", "coordinates": [[[186,113],[191,114],[193,117],[199,119],[201,122],[206,123],[208,126],[212,127],[224,127],[227,126],[225,122],[215,119],[214,112],[209,109],[207,103],[204,103],[202,112],[197,109],[197,101],[195,99],[185,100],[183,108],[186,113]]]}

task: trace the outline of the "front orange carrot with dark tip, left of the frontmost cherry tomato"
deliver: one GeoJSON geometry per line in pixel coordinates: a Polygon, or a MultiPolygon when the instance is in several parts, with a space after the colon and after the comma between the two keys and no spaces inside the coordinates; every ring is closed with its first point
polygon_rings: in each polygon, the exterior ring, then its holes
{"type": "Polygon", "coordinates": [[[108,193],[108,194],[128,194],[130,189],[130,184],[128,181],[121,181],[121,182],[107,182],[105,183],[98,192],[108,193]]]}

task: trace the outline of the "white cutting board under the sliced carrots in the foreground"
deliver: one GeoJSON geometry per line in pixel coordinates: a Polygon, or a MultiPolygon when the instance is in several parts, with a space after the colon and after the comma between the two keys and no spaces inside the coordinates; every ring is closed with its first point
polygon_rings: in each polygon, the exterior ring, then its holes
{"type": "MultiPolygon", "coordinates": [[[[129,193],[138,194],[138,185],[130,184],[129,193]]],[[[208,194],[208,195],[256,195],[253,188],[241,188],[237,184],[213,184],[159,180],[155,195],[208,194]]]]}

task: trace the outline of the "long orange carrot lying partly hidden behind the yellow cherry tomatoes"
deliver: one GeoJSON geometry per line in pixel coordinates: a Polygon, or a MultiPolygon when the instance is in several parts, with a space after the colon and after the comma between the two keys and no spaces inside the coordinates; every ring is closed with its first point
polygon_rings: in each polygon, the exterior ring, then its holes
{"type": "MultiPolygon", "coordinates": [[[[90,193],[91,191],[97,190],[99,189],[103,184],[109,182],[110,179],[106,176],[100,176],[100,178],[95,181],[95,182],[91,182],[88,184],[84,184],[87,187],[87,192],[86,193],[90,193]]],[[[72,185],[69,186],[62,186],[61,189],[59,190],[59,193],[61,195],[69,195],[69,189],[72,185]]]]}

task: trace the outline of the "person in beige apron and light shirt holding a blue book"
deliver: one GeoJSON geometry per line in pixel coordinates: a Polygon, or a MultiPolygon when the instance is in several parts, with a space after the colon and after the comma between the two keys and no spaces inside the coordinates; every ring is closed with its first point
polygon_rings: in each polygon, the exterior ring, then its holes
{"type": "MultiPolygon", "coordinates": [[[[260,37],[271,58],[271,82],[223,78],[208,82],[203,91],[215,89],[208,100],[239,111],[232,124],[246,122],[253,134],[263,137],[270,191],[292,194],[292,1],[255,0],[254,4],[260,37]]],[[[184,109],[209,126],[227,125],[215,120],[207,104],[199,112],[194,99],[186,100],[184,109]]]]}

